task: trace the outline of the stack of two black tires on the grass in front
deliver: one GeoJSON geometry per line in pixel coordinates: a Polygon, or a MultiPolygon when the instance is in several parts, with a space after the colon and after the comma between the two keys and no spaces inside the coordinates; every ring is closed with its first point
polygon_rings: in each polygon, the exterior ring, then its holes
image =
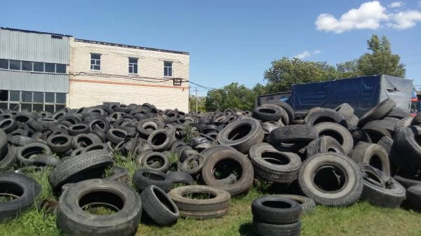
{"type": "Polygon", "coordinates": [[[259,197],[251,204],[253,230],[262,236],[298,236],[302,208],[298,202],[276,195],[259,197]]]}

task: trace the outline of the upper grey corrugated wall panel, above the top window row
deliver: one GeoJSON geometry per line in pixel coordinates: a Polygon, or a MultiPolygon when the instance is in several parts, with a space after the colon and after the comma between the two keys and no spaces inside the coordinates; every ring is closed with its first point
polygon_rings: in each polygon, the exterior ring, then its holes
{"type": "Polygon", "coordinates": [[[0,58],[69,64],[69,36],[0,29],[0,58]]]}

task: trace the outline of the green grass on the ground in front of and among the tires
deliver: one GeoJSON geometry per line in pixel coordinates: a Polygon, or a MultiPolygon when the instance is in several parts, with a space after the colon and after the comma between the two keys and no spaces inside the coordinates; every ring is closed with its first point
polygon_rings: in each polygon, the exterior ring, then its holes
{"type": "MultiPolygon", "coordinates": [[[[116,165],[128,168],[131,176],[137,168],[134,158],[115,155],[116,165]]],[[[42,172],[29,172],[42,186],[37,200],[45,198],[55,200],[48,185],[51,169],[42,172]]],[[[270,186],[256,182],[248,194],[232,197],[231,209],[223,218],[196,221],[192,218],[180,218],[171,227],[158,227],[140,224],[137,236],[147,235],[254,235],[251,229],[252,215],[250,204],[261,195],[272,193],[270,186]]],[[[108,209],[95,209],[95,214],[109,214],[108,209]]],[[[35,207],[23,212],[0,226],[0,236],[64,236],[55,225],[55,215],[38,211],[35,207]]],[[[421,214],[405,209],[387,209],[374,207],[367,202],[357,202],[351,207],[323,207],[302,217],[302,235],[319,236],[421,236],[421,214]]]]}

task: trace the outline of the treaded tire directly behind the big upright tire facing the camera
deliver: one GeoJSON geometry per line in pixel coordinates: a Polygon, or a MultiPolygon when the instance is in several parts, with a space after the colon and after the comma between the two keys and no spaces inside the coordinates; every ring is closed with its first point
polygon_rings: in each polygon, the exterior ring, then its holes
{"type": "Polygon", "coordinates": [[[319,137],[319,139],[314,139],[306,147],[307,158],[311,158],[313,155],[317,155],[319,153],[328,152],[346,155],[342,145],[330,136],[323,136],[319,137]]]}

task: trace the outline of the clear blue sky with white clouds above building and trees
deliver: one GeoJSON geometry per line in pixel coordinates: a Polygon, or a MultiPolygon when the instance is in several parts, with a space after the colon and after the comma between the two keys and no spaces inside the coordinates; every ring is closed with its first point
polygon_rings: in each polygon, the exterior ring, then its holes
{"type": "MultiPolygon", "coordinates": [[[[421,85],[421,1],[4,1],[0,26],[190,53],[190,80],[265,83],[273,60],[359,57],[384,34],[421,85]],[[352,10],[354,9],[354,10],[352,10]],[[306,53],[307,51],[307,53],[306,53]]],[[[194,85],[192,85],[194,86],[194,85]]],[[[199,94],[206,90],[199,88],[199,94]]]]}

